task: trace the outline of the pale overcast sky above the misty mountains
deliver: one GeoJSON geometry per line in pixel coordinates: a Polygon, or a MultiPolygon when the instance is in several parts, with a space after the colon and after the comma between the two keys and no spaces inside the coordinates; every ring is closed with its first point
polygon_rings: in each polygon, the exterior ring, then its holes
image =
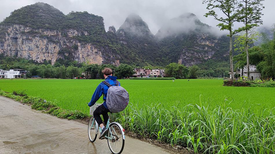
{"type": "MultiPolygon", "coordinates": [[[[10,12],[39,1],[54,6],[64,14],[87,11],[102,16],[105,29],[112,25],[118,29],[131,13],[141,16],[153,34],[165,22],[186,12],[196,14],[201,22],[212,27],[219,23],[213,17],[203,16],[207,10],[202,0],[0,0],[0,21],[9,16],[10,12]]],[[[264,6],[263,25],[270,27],[275,23],[275,0],[265,0],[264,6]]]]}

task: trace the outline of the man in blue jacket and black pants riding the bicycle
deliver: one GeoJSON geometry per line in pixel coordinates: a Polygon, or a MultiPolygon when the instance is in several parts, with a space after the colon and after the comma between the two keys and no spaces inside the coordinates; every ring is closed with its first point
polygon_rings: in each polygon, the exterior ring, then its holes
{"type": "MultiPolygon", "coordinates": [[[[104,74],[104,78],[105,78],[106,82],[108,82],[111,85],[116,85],[118,83],[118,85],[120,86],[120,83],[117,82],[117,80],[116,80],[117,77],[112,76],[113,71],[110,68],[105,68],[104,70],[102,70],[102,73],[104,74]]],[[[104,139],[105,135],[108,132],[107,129],[105,128],[105,126],[103,125],[102,119],[100,117],[100,115],[102,115],[102,117],[104,119],[104,123],[106,125],[107,121],[109,119],[108,112],[110,112],[110,110],[108,109],[108,107],[106,105],[106,97],[107,97],[108,89],[109,89],[109,87],[106,84],[104,84],[103,82],[101,82],[97,86],[96,91],[93,93],[91,101],[88,104],[89,107],[93,106],[96,103],[96,101],[98,101],[98,99],[102,96],[102,94],[104,94],[103,104],[98,106],[98,108],[96,108],[96,110],[94,110],[94,112],[93,112],[94,119],[96,120],[96,122],[98,123],[98,125],[102,129],[102,132],[99,136],[99,139],[104,139]]]]}

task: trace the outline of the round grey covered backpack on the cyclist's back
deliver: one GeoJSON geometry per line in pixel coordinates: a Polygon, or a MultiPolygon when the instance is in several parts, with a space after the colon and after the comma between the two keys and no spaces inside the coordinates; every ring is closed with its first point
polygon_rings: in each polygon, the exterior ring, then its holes
{"type": "Polygon", "coordinates": [[[109,89],[106,97],[106,105],[112,113],[123,111],[129,103],[129,94],[123,88],[119,86],[118,80],[116,85],[113,86],[106,81],[102,81],[109,89]]]}

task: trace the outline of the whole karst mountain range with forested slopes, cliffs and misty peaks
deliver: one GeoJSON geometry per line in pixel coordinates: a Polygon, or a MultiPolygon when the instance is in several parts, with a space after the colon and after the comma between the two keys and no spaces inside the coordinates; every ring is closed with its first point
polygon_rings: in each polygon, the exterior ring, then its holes
{"type": "Polygon", "coordinates": [[[187,66],[210,59],[228,59],[228,38],[202,23],[195,14],[182,14],[153,35],[146,22],[130,14],[116,31],[105,31],[101,16],[88,12],[65,15],[46,3],[15,10],[0,23],[0,54],[37,62],[78,61],[187,66]]]}

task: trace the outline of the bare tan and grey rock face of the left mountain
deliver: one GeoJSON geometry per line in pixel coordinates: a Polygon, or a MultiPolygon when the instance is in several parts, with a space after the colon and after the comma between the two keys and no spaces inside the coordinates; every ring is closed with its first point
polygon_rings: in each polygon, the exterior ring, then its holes
{"type": "MultiPolygon", "coordinates": [[[[67,37],[63,37],[61,32],[57,30],[32,29],[23,25],[12,25],[4,28],[7,29],[7,33],[5,38],[0,41],[0,54],[32,59],[42,63],[50,60],[52,64],[58,58],[64,58],[70,54],[72,59],[81,63],[102,64],[106,58],[102,55],[102,50],[106,52],[103,48],[97,48],[91,43],[82,43],[71,38],[88,35],[87,31],[80,32],[76,29],[68,29],[67,37]],[[64,48],[68,50],[62,53],[64,48]]],[[[114,64],[115,61],[116,59],[113,61],[114,64]]]]}

